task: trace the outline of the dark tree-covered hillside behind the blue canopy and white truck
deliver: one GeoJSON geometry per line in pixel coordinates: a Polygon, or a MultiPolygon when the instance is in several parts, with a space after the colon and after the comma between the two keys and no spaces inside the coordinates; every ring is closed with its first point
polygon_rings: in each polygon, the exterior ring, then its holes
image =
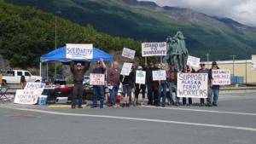
{"type": "MultiPolygon", "coordinates": [[[[90,25],[79,26],[58,17],[56,20],[57,47],[66,43],[93,43],[108,52],[127,47],[140,54],[141,44],[131,38],[111,37],[96,32],[90,25]]],[[[55,49],[55,15],[0,0],[0,48],[0,57],[9,60],[12,67],[38,66],[40,57],[55,49]]]]}

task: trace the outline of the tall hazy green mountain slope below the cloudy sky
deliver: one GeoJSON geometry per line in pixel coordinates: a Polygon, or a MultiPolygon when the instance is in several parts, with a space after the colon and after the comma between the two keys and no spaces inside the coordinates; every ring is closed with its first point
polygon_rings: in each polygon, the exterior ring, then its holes
{"type": "Polygon", "coordinates": [[[22,6],[58,14],[81,26],[139,41],[165,41],[182,31],[189,53],[206,60],[244,59],[256,53],[256,30],[235,20],[212,17],[192,9],[160,7],[137,0],[6,0],[22,6]]]}

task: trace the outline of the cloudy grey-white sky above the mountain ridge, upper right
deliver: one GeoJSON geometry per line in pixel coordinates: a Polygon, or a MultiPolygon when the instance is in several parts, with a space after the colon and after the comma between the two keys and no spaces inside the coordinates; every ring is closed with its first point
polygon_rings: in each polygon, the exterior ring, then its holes
{"type": "Polygon", "coordinates": [[[256,26],[256,0],[144,0],[160,6],[189,8],[204,14],[227,17],[248,26],[256,26]]]}

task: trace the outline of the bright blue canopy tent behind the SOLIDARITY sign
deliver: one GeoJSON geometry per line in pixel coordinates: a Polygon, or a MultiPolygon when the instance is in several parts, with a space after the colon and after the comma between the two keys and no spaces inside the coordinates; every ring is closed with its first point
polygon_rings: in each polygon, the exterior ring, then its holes
{"type": "MultiPolygon", "coordinates": [[[[99,61],[103,59],[104,61],[113,61],[113,57],[111,55],[109,55],[108,53],[104,52],[101,49],[96,49],[93,48],[93,57],[92,59],[89,59],[87,61],[99,61]]],[[[41,62],[40,62],[40,76],[42,76],[42,62],[47,62],[47,61],[61,61],[61,62],[68,62],[71,61],[71,59],[67,59],[66,58],[66,46],[61,47],[59,49],[55,49],[51,52],[49,52],[46,55],[43,55],[40,58],[41,62]]],[[[76,59],[74,59],[76,60],[76,59]]]]}

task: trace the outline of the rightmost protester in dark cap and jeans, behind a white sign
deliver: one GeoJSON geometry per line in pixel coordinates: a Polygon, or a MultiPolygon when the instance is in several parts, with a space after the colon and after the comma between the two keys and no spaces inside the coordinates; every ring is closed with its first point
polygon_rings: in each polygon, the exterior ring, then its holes
{"type": "Polygon", "coordinates": [[[219,69],[218,64],[216,61],[212,62],[212,68],[209,70],[208,76],[209,79],[211,79],[211,89],[209,91],[209,98],[212,100],[212,95],[213,95],[213,102],[212,106],[217,107],[218,106],[218,93],[219,93],[219,85],[212,85],[212,70],[217,70],[219,69]]]}

